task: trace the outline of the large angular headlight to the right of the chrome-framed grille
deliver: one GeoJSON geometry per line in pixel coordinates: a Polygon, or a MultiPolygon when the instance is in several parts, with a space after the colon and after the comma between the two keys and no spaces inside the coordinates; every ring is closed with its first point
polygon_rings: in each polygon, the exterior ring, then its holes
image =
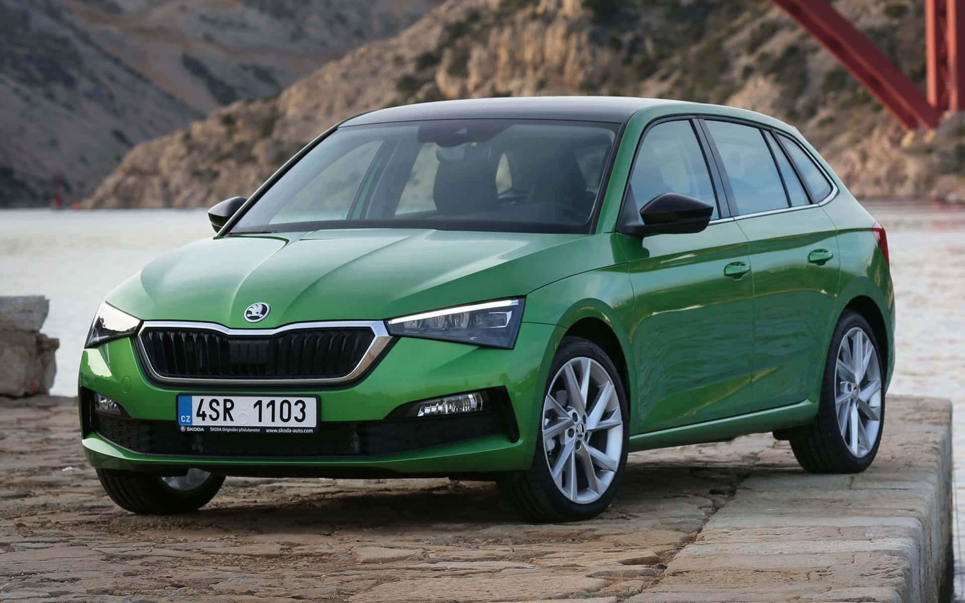
{"type": "Polygon", "coordinates": [[[390,335],[511,348],[523,319],[523,298],[446,308],[388,321],[390,335]]]}

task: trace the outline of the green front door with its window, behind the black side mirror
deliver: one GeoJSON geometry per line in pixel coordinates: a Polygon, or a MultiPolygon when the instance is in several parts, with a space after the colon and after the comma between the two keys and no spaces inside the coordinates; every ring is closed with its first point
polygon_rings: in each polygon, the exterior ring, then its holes
{"type": "Polygon", "coordinates": [[[715,206],[702,233],[620,235],[638,316],[631,332],[640,392],[635,431],[732,417],[754,408],[750,258],[727,215],[721,181],[695,121],[648,127],[623,200],[623,220],[673,192],[715,206]],[[718,206],[718,200],[720,206],[718,206]],[[723,207],[724,211],[721,211],[723,207]]]}

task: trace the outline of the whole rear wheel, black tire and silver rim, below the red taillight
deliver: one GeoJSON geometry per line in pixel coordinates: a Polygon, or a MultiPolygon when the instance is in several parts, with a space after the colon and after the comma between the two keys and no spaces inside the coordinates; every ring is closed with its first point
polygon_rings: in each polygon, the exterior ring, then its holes
{"type": "MultiPolygon", "coordinates": [[[[856,365],[851,366],[852,371],[858,369],[856,365]]],[[[883,386],[886,366],[881,356],[881,347],[868,321],[862,315],[845,311],[835,327],[831,347],[824,363],[817,419],[812,425],[798,427],[789,432],[791,449],[801,467],[811,473],[860,473],[869,468],[878,452],[881,434],[884,431],[883,386]],[[845,361],[848,357],[853,360],[851,352],[854,350],[855,338],[859,337],[859,334],[865,342],[861,349],[867,351],[867,343],[870,343],[873,349],[870,356],[864,355],[868,361],[862,374],[857,377],[860,382],[858,393],[849,394],[854,389],[855,375],[853,372],[841,369],[838,361],[843,353],[841,346],[845,337],[848,338],[847,356],[842,357],[842,364],[847,366],[845,361]],[[866,393],[872,392],[875,388],[872,383],[875,380],[877,390],[869,394],[866,400],[866,393]],[[873,420],[875,414],[876,421],[873,420]],[[843,420],[840,421],[841,417],[843,420]],[[855,423],[856,418],[857,423],[855,423]],[[856,425],[854,430],[852,425],[856,425]],[[872,427],[873,436],[870,433],[872,427]],[[855,438],[856,435],[857,438],[855,438]]]]}

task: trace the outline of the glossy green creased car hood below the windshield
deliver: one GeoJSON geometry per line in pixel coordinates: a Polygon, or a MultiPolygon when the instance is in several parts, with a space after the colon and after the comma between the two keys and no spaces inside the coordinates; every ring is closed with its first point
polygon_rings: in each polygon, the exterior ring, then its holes
{"type": "Polygon", "coordinates": [[[381,319],[525,295],[615,263],[607,235],[342,230],[196,241],[149,263],[107,296],[150,320],[270,328],[307,320],[381,319]]]}

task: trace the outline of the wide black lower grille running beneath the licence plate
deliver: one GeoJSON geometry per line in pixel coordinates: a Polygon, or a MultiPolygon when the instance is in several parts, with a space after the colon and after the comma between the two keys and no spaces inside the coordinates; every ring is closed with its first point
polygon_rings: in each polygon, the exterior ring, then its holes
{"type": "Polygon", "coordinates": [[[317,433],[290,434],[182,432],[173,421],[141,421],[96,412],[91,414],[91,423],[105,440],[133,452],[229,457],[378,456],[508,432],[499,409],[464,417],[321,422],[317,433]]]}

